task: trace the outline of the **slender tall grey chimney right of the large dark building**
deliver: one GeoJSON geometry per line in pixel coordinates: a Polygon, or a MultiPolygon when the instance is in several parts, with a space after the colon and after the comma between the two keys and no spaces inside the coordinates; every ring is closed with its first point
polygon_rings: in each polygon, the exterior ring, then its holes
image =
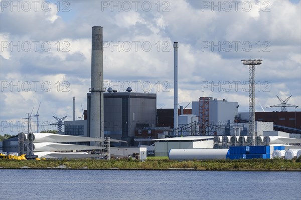
{"type": "Polygon", "coordinates": [[[174,42],[174,128],[178,128],[178,42],[174,42]]]}

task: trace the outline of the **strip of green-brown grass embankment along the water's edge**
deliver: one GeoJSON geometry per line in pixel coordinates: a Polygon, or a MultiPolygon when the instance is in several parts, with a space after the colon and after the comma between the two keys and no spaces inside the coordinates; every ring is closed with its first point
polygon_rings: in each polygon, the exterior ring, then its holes
{"type": "Polygon", "coordinates": [[[66,168],[78,169],[196,169],[196,170],[299,170],[301,158],[285,159],[241,159],[241,160],[190,160],[176,161],[162,158],[147,158],[141,162],[131,159],[120,160],[6,160],[0,159],[0,168],[55,168],[65,165],[66,168]]]}

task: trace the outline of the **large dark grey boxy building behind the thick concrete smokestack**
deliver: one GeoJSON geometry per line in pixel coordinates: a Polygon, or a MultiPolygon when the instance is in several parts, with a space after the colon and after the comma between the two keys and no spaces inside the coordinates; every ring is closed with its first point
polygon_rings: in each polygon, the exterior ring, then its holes
{"type": "MultiPolygon", "coordinates": [[[[89,128],[91,94],[88,97],[87,134],[89,128]]],[[[104,135],[134,145],[137,128],[156,127],[157,94],[133,92],[107,92],[104,98],[104,135]]]]}

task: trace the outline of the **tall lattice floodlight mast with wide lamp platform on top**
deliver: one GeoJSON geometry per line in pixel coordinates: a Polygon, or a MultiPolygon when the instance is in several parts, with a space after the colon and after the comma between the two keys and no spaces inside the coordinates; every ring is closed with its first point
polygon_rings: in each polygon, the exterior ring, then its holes
{"type": "Polygon", "coordinates": [[[249,66],[249,140],[248,145],[255,145],[255,65],[260,65],[258,60],[241,60],[243,65],[249,66]]]}

